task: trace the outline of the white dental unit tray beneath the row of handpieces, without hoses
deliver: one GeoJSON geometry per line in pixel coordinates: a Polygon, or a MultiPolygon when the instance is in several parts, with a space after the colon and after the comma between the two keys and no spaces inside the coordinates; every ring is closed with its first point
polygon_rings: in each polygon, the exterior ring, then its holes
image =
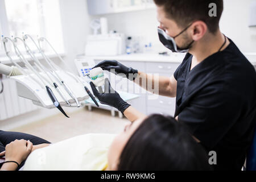
{"type": "MultiPolygon", "coordinates": [[[[88,93],[86,93],[84,89],[84,85],[89,87],[89,84],[85,80],[82,80],[82,78],[79,77],[79,79],[84,84],[82,85],[81,82],[77,82],[77,80],[75,80],[74,77],[77,77],[77,76],[73,75],[72,73],[63,72],[63,71],[56,71],[56,72],[58,75],[60,75],[61,78],[63,78],[65,84],[67,84],[69,88],[71,88],[71,90],[73,91],[73,93],[75,94],[79,102],[87,100],[89,98],[88,93]]],[[[48,79],[45,73],[41,72],[39,74],[44,78],[48,79]]],[[[55,108],[55,105],[53,105],[51,98],[49,98],[47,94],[46,87],[39,84],[40,80],[34,73],[31,73],[30,76],[19,75],[19,76],[12,76],[10,78],[16,81],[18,96],[32,100],[33,104],[46,107],[47,109],[55,108]]],[[[69,96],[67,92],[65,92],[65,89],[63,88],[63,86],[61,86],[60,82],[57,82],[57,84],[59,85],[59,89],[68,99],[70,104],[75,103],[75,100],[73,100],[73,98],[69,96]]],[[[53,85],[48,85],[48,86],[49,88],[51,88],[53,94],[57,98],[57,101],[59,101],[59,104],[61,106],[68,106],[67,103],[60,96],[60,94],[55,90],[53,85]]]]}

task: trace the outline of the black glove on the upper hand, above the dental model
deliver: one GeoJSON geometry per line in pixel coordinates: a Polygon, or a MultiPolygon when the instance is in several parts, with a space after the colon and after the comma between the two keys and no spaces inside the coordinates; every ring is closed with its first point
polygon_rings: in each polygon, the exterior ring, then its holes
{"type": "Polygon", "coordinates": [[[101,67],[103,70],[106,70],[106,71],[109,71],[109,72],[110,72],[110,69],[114,69],[115,70],[115,75],[117,75],[119,73],[123,73],[131,81],[133,81],[138,75],[138,70],[137,69],[133,69],[131,67],[128,68],[125,65],[123,65],[123,64],[121,64],[121,63],[119,63],[118,61],[115,61],[115,60],[101,61],[100,63],[98,63],[93,68],[97,68],[97,67],[101,67]]]}

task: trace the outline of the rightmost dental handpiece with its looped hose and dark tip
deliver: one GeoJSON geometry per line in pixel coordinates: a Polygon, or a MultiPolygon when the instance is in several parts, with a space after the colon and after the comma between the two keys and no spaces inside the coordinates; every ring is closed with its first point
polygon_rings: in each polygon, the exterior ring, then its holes
{"type": "MultiPolygon", "coordinates": [[[[46,38],[39,38],[39,39],[38,39],[39,47],[40,47],[40,42],[43,42],[43,41],[46,41],[46,42],[47,42],[47,44],[52,48],[52,50],[53,50],[53,51],[55,52],[55,54],[59,57],[59,59],[64,63],[65,67],[68,68],[71,72],[73,72],[72,69],[67,65],[67,63],[65,63],[65,61],[61,58],[61,56],[57,53],[57,51],[52,47],[52,45],[48,42],[48,40],[47,40],[46,38]]],[[[43,53],[41,47],[40,47],[40,50],[41,50],[41,52],[43,53]]],[[[55,64],[53,63],[53,61],[51,61],[51,62],[52,62],[52,64],[53,64],[53,65],[55,66],[55,68],[56,68],[57,65],[55,65],[55,64]]],[[[93,65],[94,65],[94,64],[93,64],[93,65]]],[[[93,65],[92,65],[92,66],[93,66],[93,65]]],[[[57,68],[58,68],[58,67],[57,67],[57,68]]],[[[76,73],[74,73],[74,75],[76,75],[76,73]]],[[[73,75],[71,75],[71,76],[73,76],[73,75]]],[[[98,103],[97,103],[97,101],[96,101],[95,98],[93,97],[92,93],[90,93],[90,90],[89,90],[89,89],[87,88],[87,86],[85,85],[85,82],[84,82],[83,80],[81,80],[80,77],[73,76],[73,78],[75,78],[75,80],[76,80],[77,82],[80,82],[82,85],[84,85],[84,89],[85,89],[86,93],[90,96],[90,98],[92,98],[92,100],[94,101],[94,103],[95,103],[97,106],[99,106],[98,103]]]]}

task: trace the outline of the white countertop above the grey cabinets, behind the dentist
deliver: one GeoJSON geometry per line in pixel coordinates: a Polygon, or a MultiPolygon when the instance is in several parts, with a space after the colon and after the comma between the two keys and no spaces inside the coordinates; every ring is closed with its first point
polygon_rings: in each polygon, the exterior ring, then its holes
{"type": "MultiPolygon", "coordinates": [[[[251,64],[256,66],[256,53],[244,53],[251,64]]],[[[118,60],[118,61],[145,61],[163,63],[181,63],[185,53],[172,53],[171,55],[158,55],[157,53],[133,53],[117,56],[86,56],[94,60],[118,60]]]]}

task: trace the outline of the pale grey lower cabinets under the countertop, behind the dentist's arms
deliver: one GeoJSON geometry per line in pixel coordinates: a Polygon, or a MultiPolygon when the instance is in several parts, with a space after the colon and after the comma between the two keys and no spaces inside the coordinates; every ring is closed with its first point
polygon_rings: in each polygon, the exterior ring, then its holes
{"type": "MultiPolygon", "coordinates": [[[[99,63],[101,60],[94,60],[99,63]]],[[[126,65],[127,67],[132,67],[134,69],[138,69],[144,73],[150,73],[152,76],[167,76],[171,77],[176,71],[177,67],[179,67],[180,63],[163,63],[160,60],[155,62],[147,62],[147,61],[129,61],[129,60],[118,60],[120,63],[126,65]]],[[[112,73],[107,73],[112,74],[112,73]]],[[[122,78],[119,76],[111,75],[110,83],[114,85],[115,90],[121,90],[124,92],[138,94],[140,97],[130,101],[135,109],[141,111],[145,114],[152,113],[161,113],[161,114],[170,114],[174,115],[175,112],[175,100],[176,98],[163,97],[147,92],[137,84],[132,81],[127,80],[126,78],[122,78]],[[113,77],[115,77],[113,79],[113,77]],[[113,82],[114,81],[114,82],[113,82]]]]}

